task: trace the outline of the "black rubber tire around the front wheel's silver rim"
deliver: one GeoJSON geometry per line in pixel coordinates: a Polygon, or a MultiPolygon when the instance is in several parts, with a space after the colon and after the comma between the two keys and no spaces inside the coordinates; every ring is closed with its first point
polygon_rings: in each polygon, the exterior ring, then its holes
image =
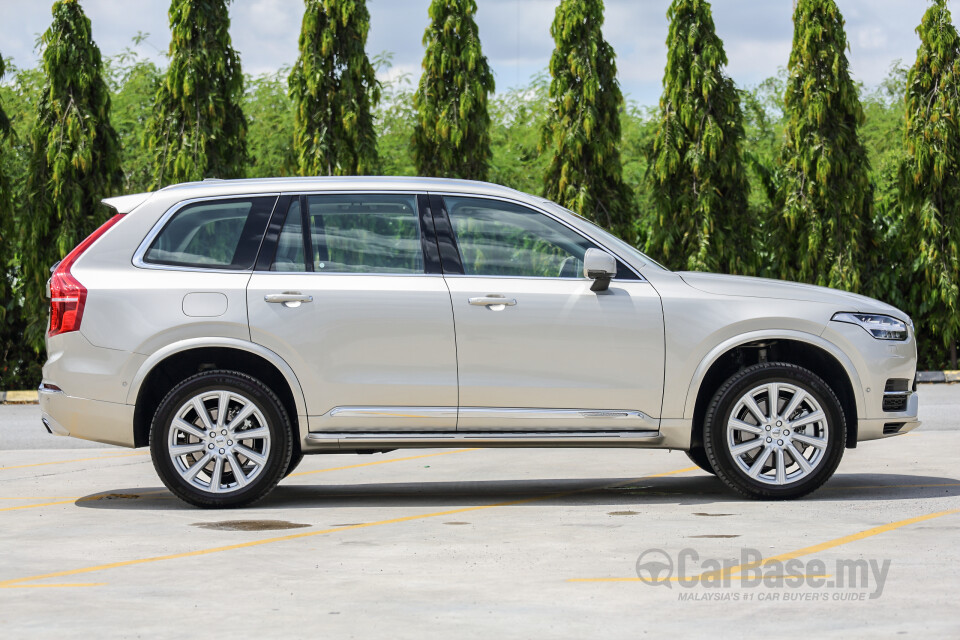
{"type": "MultiPolygon", "coordinates": [[[[778,395],[778,405],[779,402],[778,395]]],[[[767,401],[766,404],[769,405],[771,402],[767,401]]],[[[761,407],[761,409],[766,411],[764,407],[761,407]]],[[[780,409],[778,408],[778,412],[780,409]]],[[[786,407],[782,407],[782,409],[786,409],[786,407]]],[[[773,422],[774,420],[775,418],[770,418],[771,426],[775,430],[779,423],[773,422]]],[[[769,431],[766,426],[762,428],[769,431]]],[[[812,426],[811,428],[816,429],[817,427],[812,426]]],[[[807,435],[806,428],[804,428],[803,435],[807,435]]],[[[794,429],[791,437],[799,437],[796,429],[794,429]]],[[[774,435],[773,438],[774,443],[776,443],[777,436],[774,435]]],[[[763,439],[767,439],[767,436],[764,435],[763,439]]],[[[818,489],[836,471],[846,445],[846,419],[837,395],[826,382],[813,372],[786,362],[761,363],[737,372],[724,382],[714,394],[706,412],[703,441],[711,467],[716,471],[717,477],[728,487],[748,498],[789,500],[799,498],[818,489]],[[786,383],[809,394],[819,404],[825,415],[826,422],[817,424],[827,426],[826,443],[822,447],[822,453],[817,464],[812,465],[813,468],[807,472],[807,475],[800,475],[795,481],[787,481],[779,485],[768,484],[751,478],[747,471],[737,463],[727,446],[727,423],[737,403],[749,395],[752,389],[769,383],[786,383]]],[[[770,442],[770,440],[767,440],[767,442],[770,442]]],[[[773,445],[771,444],[771,446],[773,445]]],[[[756,458],[759,458],[760,455],[759,453],[756,454],[756,458]]],[[[792,457],[792,454],[789,455],[792,457]]],[[[775,452],[772,456],[775,456],[775,452]]],[[[766,468],[762,461],[756,461],[760,463],[762,468],[766,468]]]]}

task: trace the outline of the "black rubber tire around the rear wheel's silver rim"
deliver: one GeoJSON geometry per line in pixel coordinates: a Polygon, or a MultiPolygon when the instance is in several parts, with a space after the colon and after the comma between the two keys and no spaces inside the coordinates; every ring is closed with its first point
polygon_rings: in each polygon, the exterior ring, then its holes
{"type": "MultiPolygon", "coordinates": [[[[193,426],[196,427],[199,424],[194,423],[193,426]]],[[[205,432],[203,428],[197,430],[205,432]]],[[[182,429],[180,431],[182,435],[182,429]]],[[[238,433],[242,432],[238,431],[238,433]]],[[[174,434],[174,437],[177,437],[177,434],[174,434]]],[[[244,441],[250,442],[248,440],[244,441]]],[[[208,446],[205,445],[205,441],[200,441],[200,444],[208,446]]],[[[240,438],[237,439],[237,444],[241,444],[240,438]]],[[[174,495],[184,502],[198,507],[209,509],[242,507],[263,498],[284,477],[290,467],[292,451],[292,428],[283,403],[264,383],[236,371],[203,371],[180,382],[160,402],[150,425],[150,453],[157,474],[174,495]],[[184,407],[185,403],[197,395],[214,391],[228,391],[241,395],[259,411],[265,422],[261,426],[269,430],[269,448],[264,447],[266,449],[265,461],[256,465],[258,469],[256,474],[251,475],[251,479],[247,481],[246,486],[241,486],[235,482],[238,488],[228,488],[223,493],[203,490],[202,487],[198,487],[183,478],[167,448],[177,412],[184,407]]],[[[204,449],[201,452],[205,454],[206,450],[204,449]]],[[[201,452],[191,455],[199,458],[201,452]]],[[[243,454],[239,453],[239,455],[242,456],[243,454]]],[[[253,451],[251,451],[251,455],[253,455],[253,451]]],[[[243,458],[237,457],[234,459],[243,460],[243,458]]],[[[208,465],[211,463],[213,461],[208,465]]],[[[181,462],[181,464],[183,463],[181,462]]],[[[196,462],[196,464],[199,464],[199,462],[196,462]]],[[[235,478],[236,476],[231,475],[233,471],[226,471],[228,464],[228,462],[223,463],[224,477],[235,478]]],[[[241,462],[240,466],[243,467],[247,464],[251,464],[251,462],[241,462]]],[[[205,469],[206,467],[203,467],[200,474],[206,473],[205,469]]],[[[212,477],[215,474],[210,473],[208,475],[210,476],[209,484],[212,485],[212,477]]],[[[220,486],[219,483],[218,486],[220,486]]]]}

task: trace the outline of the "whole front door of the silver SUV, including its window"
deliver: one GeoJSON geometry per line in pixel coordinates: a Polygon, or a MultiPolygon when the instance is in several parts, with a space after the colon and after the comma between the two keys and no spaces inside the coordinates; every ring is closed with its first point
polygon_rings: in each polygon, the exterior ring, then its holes
{"type": "Polygon", "coordinates": [[[458,430],[656,430],[664,333],[653,287],[619,264],[607,291],[591,291],[583,256],[596,245],[539,211],[475,197],[444,204],[463,271],[445,275],[458,430]]]}

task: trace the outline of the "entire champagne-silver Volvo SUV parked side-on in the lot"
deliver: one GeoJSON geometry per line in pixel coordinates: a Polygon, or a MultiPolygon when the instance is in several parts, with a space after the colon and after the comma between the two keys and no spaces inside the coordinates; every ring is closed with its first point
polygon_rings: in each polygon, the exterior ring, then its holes
{"type": "Polygon", "coordinates": [[[149,445],[194,505],[262,498],[304,454],[463,445],[681,449],[794,498],[919,424],[903,312],[672,273],[504,187],[204,181],[105,204],[50,279],[43,423],[149,445]]]}

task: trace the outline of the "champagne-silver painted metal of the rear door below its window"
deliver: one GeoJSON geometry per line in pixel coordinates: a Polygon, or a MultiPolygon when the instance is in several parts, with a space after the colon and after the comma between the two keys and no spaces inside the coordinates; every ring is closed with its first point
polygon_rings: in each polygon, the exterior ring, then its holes
{"type": "Polygon", "coordinates": [[[441,275],[257,272],[248,299],[251,339],[297,372],[311,430],[456,427],[456,343],[441,275]],[[287,291],[313,300],[295,307],[264,300],[287,291]],[[425,417],[360,407],[447,411],[425,417]]]}

